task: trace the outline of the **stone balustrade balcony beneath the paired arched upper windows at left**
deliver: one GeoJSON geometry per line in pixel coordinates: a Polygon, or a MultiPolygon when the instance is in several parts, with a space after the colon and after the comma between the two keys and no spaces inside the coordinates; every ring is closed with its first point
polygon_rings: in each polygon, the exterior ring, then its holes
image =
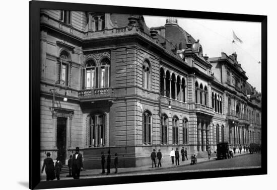
{"type": "Polygon", "coordinates": [[[78,92],[78,97],[81,102],[112,100],[114,98],[114,91],[111,87],[83,89],[78,92]]]}

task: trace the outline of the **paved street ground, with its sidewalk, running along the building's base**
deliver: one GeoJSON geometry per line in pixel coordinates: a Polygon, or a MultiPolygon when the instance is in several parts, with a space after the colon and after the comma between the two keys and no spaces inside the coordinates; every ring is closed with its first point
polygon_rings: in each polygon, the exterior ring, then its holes
{"type": "MultiPolygon", "coordinates": [[[[80,178],[101,178],[101,177],[114,177],[114,176],[128,176],[128,175],[142,175],[152,173],[168,173],[168,172],[191,172],[199,170],[215,170],[215,169],[234,169],[245,167],[259,167],[261,165],[261,154],[236,154],[232,159],[216,160],[216,158],[199,158],[196,165],[190,165],[190,160],[180,161],[180,165],[173,165],[171,162],[162,162],[162,168],[152,168],[149,166],[134,167],[134,168],[119,168],[118,173],[114,174],[114,169],[111,169],[109,175],[101,174],[101,169],[92,169],[81,171],[80,178]]],[[[61,180],[72,179],[67,177],[67,174],[61,174],[61,180]]],[[[42,176],[42,180],[45,180],[46,176],[42,176]]]]}

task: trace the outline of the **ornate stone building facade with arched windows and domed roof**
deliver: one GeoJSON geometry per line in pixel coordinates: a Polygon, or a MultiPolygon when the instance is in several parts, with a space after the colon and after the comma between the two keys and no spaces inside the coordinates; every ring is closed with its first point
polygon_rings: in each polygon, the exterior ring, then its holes
{"type": "Polygon", "coordinates": [[[79,146],[87,169],[108,150],[133,167],[154,148],[260,143],[261,94],[237,55],[204,56],[174,18],[150,29],[140,15],[42,10],[40,42],[41,161],[79,146]]]}

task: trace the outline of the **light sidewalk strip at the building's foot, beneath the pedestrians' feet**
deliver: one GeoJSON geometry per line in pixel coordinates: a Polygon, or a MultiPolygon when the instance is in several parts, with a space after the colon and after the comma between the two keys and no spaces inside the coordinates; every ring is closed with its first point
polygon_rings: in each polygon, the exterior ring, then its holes
{"type": "MultiPolygon", "coordinates": [[[[249,153],[248,153],[249,154],[249,153]]],[[[243,156],[243,155],[247,155],[245,152],[237,153],[234,154],[234,157],[237,156],[243,156]]],[[[190,165],[190,158],[188,160],[182,161],[182,158],[179,161],[180,165],[175,165],[175,159],[174,159],[174,164],[172,164],[171,159],[162,159],[162,167],[154,167],[152,168],[152,162],[151,159],[149,158],[149,165],[147,166],[140,166],[140,167],[127,167],[127,168],[118,168],[118,173],[114,173],[115,169],[111,168],[111,173],[109,175],[102,174],[102,169],[88,169],[88,170],[83,170],[80,173],[80,178],[89,178],[89,177],[107,177],[107,176],[120,176],[122,174],[127,174],[127,173],[134,173],[136,171],[157,171],[159,169],[165,169],[165,168],[173,168],[173,167],[180,167],[180,166],[184,166],[184,165],[190,165]],[[164,161],[163,161],[164,160],[164,161]]],[[[214,161],[216,160],[216,157],[211,157],[211,159],[209,160],[207,157],[206,158],[198,158],[197,159],[197,164],[199,163],[203,163],[203,162],[209,162],[209,161],[214,161]]],[[[112,163],[111,163],[112,165],[112,163]]],[[[105,172],[107,171],[107,169],[105,168],[105,172]]],[[[63,173],[60,174],[60,178],[61,180],[63,179],[73,179],[72,177],[67,177],[66,175],[68,175],[68,173],[63,173]]],[[[45,178],[42,177],[44,180],[45,178]]]]}

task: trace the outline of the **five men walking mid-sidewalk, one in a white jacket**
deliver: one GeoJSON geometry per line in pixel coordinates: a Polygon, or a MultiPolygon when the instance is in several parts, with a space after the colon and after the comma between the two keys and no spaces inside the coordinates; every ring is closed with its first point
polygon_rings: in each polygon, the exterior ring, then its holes
{"type": "MultiPolygon", "coordinates": [[[[187,159],[187,149],[184,149],[184,147],[182,147],[182,150],[181,150],[181,155],[182,155],[182,161],[185,161],[188,160],[187,159]]],[[[153,149],[153,152],[151,153],[150,155],[151,157],[151,160],[152,160],[152,167],[157,167],[156,165],[156,157],[158,159],[158,167],[162,167],[162,163],[161,163],[161,159],[162,159],[162,152],[161,152],[161,149],[159,149],[159,151],[157,152],[157,155],[156,155],[156,150],[153,149]]],[[[179,157],[180,157],[180,154],[179,154],[179,151],[178,151],[178,148],[176,148],[176,150],[174,151],[174,149],[172,148],[171,151],[170,151],[170,157],[171,157],[171,161],[172,161],[172,164],[174,164],[174,158],[175,158],[175,164],[179,165],[179,157]]]]}

